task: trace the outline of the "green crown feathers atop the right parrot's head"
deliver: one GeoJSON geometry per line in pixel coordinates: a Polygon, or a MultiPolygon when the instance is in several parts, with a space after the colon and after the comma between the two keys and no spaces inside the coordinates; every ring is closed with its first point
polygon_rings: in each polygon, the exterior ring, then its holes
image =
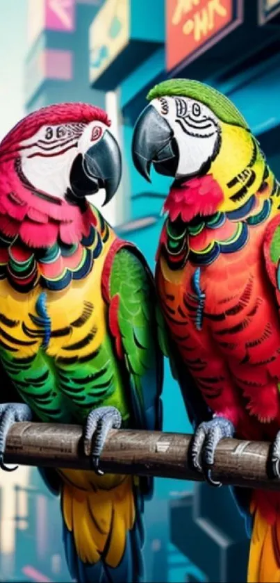
{"type": "Polygon", "coordinates": [[[149,91],[147,99],[151,101],[152,99],[174,97],[175,95],[200,101],[201,104],[211,109],[219,120],[226,124],[249,129],[244,117],[227,97],[213,87],[199,83],[199,81],[192,81],[192,79],[169,79],[168,81],[163,81],[163,83],[155,85],[149,91]]]}

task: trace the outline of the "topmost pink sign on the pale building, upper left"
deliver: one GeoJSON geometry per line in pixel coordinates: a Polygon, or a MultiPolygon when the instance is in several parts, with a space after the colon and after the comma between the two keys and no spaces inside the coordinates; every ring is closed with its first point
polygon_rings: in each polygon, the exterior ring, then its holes
{"type": "Polygon", "coordinates": [[[76,0],[28,0],[28,46],[44,30],[71,33],[76,0]]]}

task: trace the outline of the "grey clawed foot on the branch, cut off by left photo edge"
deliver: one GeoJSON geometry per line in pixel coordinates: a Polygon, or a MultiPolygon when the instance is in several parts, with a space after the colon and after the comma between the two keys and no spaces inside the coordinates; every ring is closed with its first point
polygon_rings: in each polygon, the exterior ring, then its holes
{"type": "Polygon", "coordinates": [[[6,438],[9,429],[14,423],[20,421],[31,421],[33,418],[32,411],[25,403],[3,403],[0,404],[0,468],[6,472],[14,472],[15,468],[8,468],[3,463],[3,457],[6,447],[6,438]]]}

